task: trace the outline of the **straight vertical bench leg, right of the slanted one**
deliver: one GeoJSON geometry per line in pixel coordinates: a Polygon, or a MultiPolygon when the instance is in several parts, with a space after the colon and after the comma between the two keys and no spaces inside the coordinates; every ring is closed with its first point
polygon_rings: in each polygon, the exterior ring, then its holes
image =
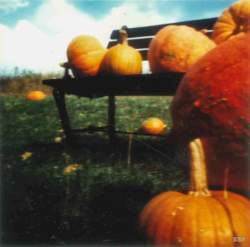
{"type": "Polygon", "coordinates": [[[115,134],[115,96],[109,95],[108,97],[108,135],[110,142],[114,142],[115,134]]]}

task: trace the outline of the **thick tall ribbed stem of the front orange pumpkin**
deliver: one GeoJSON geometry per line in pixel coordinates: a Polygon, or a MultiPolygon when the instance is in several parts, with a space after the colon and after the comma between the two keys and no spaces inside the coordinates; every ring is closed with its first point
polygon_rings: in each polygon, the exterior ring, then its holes
{"type": "Polygon", "coordinates": [[[190,194],[210,196],[207,185],[205,154],[200,139],[189,144],[190,194]]]}

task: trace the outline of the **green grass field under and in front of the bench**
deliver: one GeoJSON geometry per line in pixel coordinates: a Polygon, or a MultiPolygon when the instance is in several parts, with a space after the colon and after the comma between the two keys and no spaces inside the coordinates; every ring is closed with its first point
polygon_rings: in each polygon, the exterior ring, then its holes
{"type": "MultiPolygon", "coordinates": [[[[84,134],[63,141],[54,100],[1,96],[2,242],[11,244],[135,244],[145,203],[164,190],[187,189],[185,150],[164,138],[84,134]],[[128,162],[128,157],[131,159],[128,162]],[[64,174],[64,168],[77,169],[64,174]]],[[[150,116],[169,128],[170,97],[117,99],[117,129],[135,131],[150,116]]],[[[67,97],[74,127],[106,123],[107,98],[67,97]]]]}

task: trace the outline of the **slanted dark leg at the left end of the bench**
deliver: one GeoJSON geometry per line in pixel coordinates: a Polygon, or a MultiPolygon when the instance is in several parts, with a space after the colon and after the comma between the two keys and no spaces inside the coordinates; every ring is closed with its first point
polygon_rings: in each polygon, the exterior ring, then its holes
{"type": "Polygon", "coordinates": [[[70,120],[65,104],[65,94],[60,90],[54,89],[53,96],[56,102],[56,106],[58,109],[59,117],[61,120],[61,125],[66,136],[66,139],[70,139],[71,127],[70,120]]]}

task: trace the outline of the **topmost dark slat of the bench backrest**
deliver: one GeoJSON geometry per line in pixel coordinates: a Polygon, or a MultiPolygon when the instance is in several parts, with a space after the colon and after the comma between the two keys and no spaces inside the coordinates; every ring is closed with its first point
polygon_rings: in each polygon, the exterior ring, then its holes
{"type": "MultiPolygon", "coordinates": [[[[207,18],[207,19],[200,19],[200,20],[191,20],[191,21],[182,21],[182,22],[174,22],[168,24],[161,24],[161,25],[153,25],[153,26],[146,26],[146,27],[135,27],[135,28],[128,28],[128,37],[144,37],[144,36],[153,36],[157,31],[161,28],[165,27],[166,25],[189,25],[196,29],[212,29],[213,25],[216,21],[217,17],[207,18]]],[[[110,39],[118,39],[119,37],[119,30],[113,30],[111,33],[110,39]]]]}

